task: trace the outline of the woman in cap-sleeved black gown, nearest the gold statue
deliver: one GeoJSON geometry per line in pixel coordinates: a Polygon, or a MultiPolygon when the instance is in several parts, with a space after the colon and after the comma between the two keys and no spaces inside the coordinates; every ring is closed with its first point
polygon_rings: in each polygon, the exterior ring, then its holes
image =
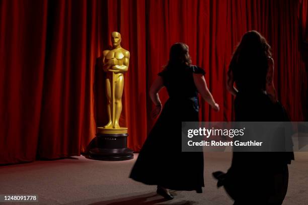
{"type": "Polygon", "coordinates": [[[210,106],[219,111],[206,86],[205,72],[191,65],[188,46],[176,43],[170,49],[169,62],[153,82],[149,95],[156,105],[154,116],[160,117],[150,131],[130,178],[145,184],[158,185],[157,193],[167,199],[169,189],[202,192],[203,153],[182,152],[181,122],[199,121],[198,92],[210,106]],[[167,88],[169,99],[164,109],[158,92],[167,88]]]}

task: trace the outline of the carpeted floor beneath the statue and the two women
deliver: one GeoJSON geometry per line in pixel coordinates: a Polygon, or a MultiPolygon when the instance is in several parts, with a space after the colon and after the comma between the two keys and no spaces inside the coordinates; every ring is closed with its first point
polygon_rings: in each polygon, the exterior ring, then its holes
{"type": "MultiPolygon", "coordinates": [[[[308,152],[295,153],[289,166],[289,189],[284,205],[306,205],[308,201],[308,152]]],[[[37,194],[39,202],[0,204],[208,204],[231,205],[223,188],[216,189],[212,171],[227,170],[232,153],[205,153],[203,193],[174,191],[175,199],[157,196],[155,186],[128,178],[137,157],[129,161],[96,161],[84,156],[54,161],[0,166],[0,194],[37,194]]]]}

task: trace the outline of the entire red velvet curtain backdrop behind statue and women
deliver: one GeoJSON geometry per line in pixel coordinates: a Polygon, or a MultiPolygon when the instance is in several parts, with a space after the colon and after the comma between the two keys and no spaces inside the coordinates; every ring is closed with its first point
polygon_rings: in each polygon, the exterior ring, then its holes
{"type": "Polygon", "coordinates": [[[112,31],[131,53],[120,125],[128,126],[135,151],[155,121],[147,91],[178,41],[206,70],[221,107],[214,113],[201,100],[203,121],[233,119],[227,66],[252,29],[272,46],[279,99],[293,121],[303,120],[307,8],[306,0],[0,0],[0,164],[85,151],[107,120],[100,57],[112,31]]]}

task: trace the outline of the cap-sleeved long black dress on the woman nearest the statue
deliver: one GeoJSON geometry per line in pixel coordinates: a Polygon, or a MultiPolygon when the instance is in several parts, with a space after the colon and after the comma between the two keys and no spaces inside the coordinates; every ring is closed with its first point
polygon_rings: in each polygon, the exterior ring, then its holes
{"type": "Polygon", "coordinates": [[[130,178],[173,190],[202,192],[203,153],[182,152],[181,147],[181,122],[199,121],[193,73],[205,74],[197,66],[165,69],[159,73],[169,99],[139,153],[130,178]]]}

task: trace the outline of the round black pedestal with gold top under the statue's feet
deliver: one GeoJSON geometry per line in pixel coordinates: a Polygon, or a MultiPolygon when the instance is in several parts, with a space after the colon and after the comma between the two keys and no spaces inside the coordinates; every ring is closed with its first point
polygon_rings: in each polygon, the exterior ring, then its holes
{"type": "Polygon", "coordinates": [[[97,147],[90,150],[90,158],[106,161],[133,159],[133,150],[127,148],[127,128],[97,128],[97,147]]]}

